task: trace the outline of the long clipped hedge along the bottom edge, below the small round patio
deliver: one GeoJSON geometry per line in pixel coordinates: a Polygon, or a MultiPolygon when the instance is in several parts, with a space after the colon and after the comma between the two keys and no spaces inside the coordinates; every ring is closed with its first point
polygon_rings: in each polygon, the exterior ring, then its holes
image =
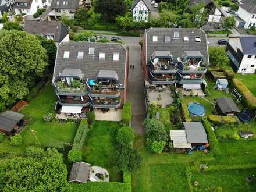
{"type": "Polygon", "coordinates": [[[129,183],[119,182],[87,182],[83,184],[70,183],[70,191],[73,192],[131,192],[131,185],[129,183]]]}

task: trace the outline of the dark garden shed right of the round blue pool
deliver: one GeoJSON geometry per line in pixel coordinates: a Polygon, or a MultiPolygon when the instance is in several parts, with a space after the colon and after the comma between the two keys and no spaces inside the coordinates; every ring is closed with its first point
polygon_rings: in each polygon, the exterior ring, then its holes
{"type": "Polygon", "coordinates": [[[220,97],[215,99],[215,109],[219,115],[237,115],[240,113],[239,108],[230,97],[220,97]]]}

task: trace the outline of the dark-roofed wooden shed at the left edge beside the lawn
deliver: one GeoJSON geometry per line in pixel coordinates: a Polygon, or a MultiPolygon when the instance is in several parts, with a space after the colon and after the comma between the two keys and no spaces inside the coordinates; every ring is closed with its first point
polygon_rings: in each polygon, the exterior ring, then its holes
{"type": "Polygon", "coordinates": [[[13,111],[5,111],[0,115],[0,132],[5,134],[15,134],[24,126],[25,115],[13,111]]]}

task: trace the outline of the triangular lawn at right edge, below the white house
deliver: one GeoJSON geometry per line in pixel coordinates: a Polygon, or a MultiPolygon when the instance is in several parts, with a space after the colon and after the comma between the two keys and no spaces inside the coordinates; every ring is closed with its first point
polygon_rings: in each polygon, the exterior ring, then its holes
{"type": "Polygon", "coordinates": [[[235,78],[242,81],[242,83],[254,94],[256,97],[256,74],[236,74],[235,78]]]}

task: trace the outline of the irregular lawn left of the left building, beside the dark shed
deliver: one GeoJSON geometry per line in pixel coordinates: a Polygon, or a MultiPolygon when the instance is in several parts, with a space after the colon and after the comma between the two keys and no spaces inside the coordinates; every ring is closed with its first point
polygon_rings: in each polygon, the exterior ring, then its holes
{"type": "Polygon", "coordinates": [[[15,154],[23,154],[28,146],[39,144],[35,136],[37,136],[43,147],[47,145],[49,140],[61,140],[67,143],[73,143],[74,135],[77,130],[76,124],[48,123],[43,120],[44,114],[53,110],[55,101],[55,91],[51,84],[48,83],[40,94],[20,111],[20,113],[32,118],[32,122],[29,123],[21,133],[23,137],[22,146],[12,147],[9,138],[6,138],[5,141],[0,144],[0,151],[11,151],[15,154]],[[34,130],[35,136],[30,129],[34,130]]]}

